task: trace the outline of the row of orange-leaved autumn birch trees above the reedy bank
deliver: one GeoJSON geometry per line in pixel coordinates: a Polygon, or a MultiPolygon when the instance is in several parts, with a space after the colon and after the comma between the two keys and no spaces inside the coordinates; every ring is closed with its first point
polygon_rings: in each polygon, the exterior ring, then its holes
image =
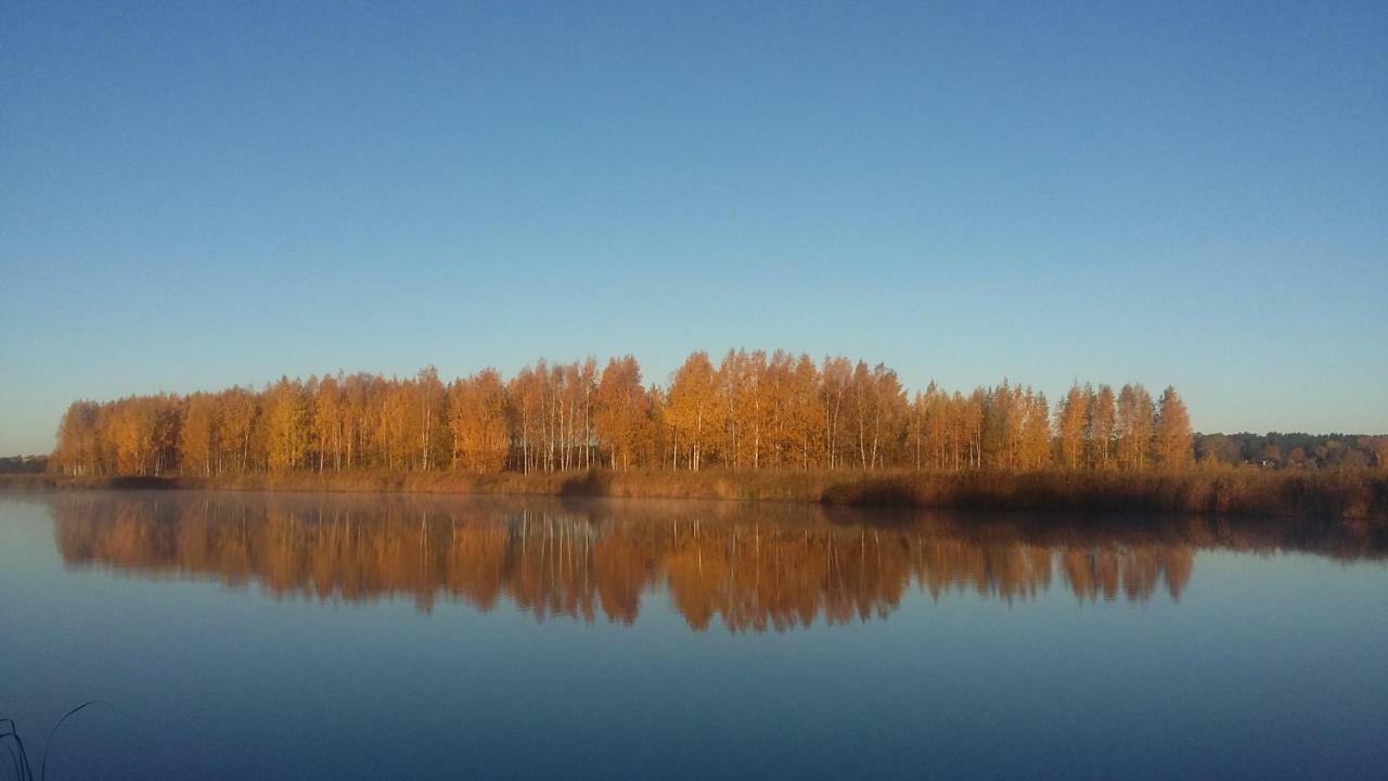
{"type": "Polygon", "coordinates": [[[1173,388],[1078,385],[1056,403],[1004,381],[908,393],[886,365],[777,350],[697,352],[668,386],[636,359],[537,361],[444,384],[433,368],[280,378],[262,390],[76,402],[54,466],[71,475],[290,471],[519,472],[607,467],[1038,470],[1183,467],[1173,388]]]}

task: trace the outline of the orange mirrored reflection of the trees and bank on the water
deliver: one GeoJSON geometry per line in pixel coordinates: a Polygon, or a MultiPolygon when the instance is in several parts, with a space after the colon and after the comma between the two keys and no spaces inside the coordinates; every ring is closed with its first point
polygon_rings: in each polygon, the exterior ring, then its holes
{"type": "Polygon", "coordinates": [[[908,588],[1024,600],[1180,598],[1195,550],[1380,556],[1338,525],[870,516],[801,504],[90,496],[54,500],[69,564],[255,582],[278,596],[411,595],[632,624],[663,591],[694,630],[886,617],[908,588]],[[1055,570],[1059,570],[1056,574],[1055,570]]]}

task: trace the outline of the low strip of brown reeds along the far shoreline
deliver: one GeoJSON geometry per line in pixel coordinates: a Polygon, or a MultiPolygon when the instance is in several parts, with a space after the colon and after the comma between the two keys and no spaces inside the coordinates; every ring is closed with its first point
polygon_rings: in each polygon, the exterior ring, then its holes
{"type": "Polygon", "coordinates": [[[1388,521],[1388,472],[1033,471],[877,472],[706,470],[540,474],[291,472],[218,477],[0,475],[0,491],[185,489],[325,493],[454,493],[805,502],[844,507],[1180,513],[1388,521]]]}

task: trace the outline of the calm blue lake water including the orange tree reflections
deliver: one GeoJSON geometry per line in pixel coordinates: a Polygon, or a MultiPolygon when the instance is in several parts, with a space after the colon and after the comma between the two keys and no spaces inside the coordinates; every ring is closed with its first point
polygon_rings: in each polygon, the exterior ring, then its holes
{"type": "Polygon", "coordinates": [[[36,774],[93,699],[49,778],[1382,778],[1388,566],[1266,521],[0,495],[36,774]]]}

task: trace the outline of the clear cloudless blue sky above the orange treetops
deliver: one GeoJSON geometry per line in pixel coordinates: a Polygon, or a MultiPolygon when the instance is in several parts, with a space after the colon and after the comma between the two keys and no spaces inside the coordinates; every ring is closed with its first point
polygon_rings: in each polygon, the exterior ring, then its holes
{"type": "Polygon", "coordinates": [[[729,347],[1388,432],[1388,4],[0,3],[0,454],[729,347]]]}

